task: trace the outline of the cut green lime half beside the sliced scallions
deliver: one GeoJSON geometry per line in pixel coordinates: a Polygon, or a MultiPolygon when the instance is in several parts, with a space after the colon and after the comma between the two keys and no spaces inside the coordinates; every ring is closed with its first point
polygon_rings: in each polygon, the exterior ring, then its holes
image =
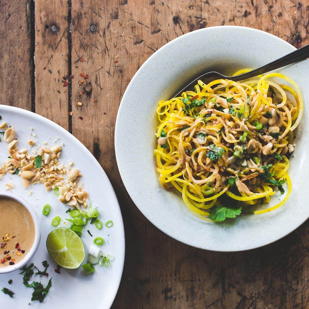
{"type": "Polygon", "coordinates": [[[64,268],[78,268],[85,258],[82,240],[68,228],[59,227],[51,231],[46,239],[46,247],[55,262],[64,268]]]}

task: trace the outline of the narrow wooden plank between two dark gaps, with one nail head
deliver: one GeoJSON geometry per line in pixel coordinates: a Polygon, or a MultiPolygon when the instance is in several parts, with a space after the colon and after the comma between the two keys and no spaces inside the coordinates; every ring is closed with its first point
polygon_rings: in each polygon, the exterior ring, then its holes
{"type": "Polygon", "coordinates": [[[35,2],[36,113],[68,129],[68,2],[35,2]]]}

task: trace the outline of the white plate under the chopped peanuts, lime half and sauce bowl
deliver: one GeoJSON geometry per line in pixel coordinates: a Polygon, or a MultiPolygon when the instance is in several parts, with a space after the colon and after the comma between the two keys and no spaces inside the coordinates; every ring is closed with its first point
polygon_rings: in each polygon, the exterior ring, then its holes
{"type": "MultiPolygon", "coordinates": [[[[45,243],[47,235],[54,229],[51,225],[52,218],[57,215],[61,218],[70,218],[69,214],[66,214],[68,207],[58,201],[52,191],[46,192],[43,185],[31,185],[29,190],[26,190],[21,186],[19,176],[7,174],[0,180],[0,191],[5,191],[5,184],[12,181],[15,188],[10,192],[22,196],[32,204],[40,218],[41,242],[30,263],[33,262],[42,270],[44,268],[41,262],[47,260],[49,263],[48,279],[51,277],[53,279],[52,287],[45,297],[44,303],[39,303],[38,301],[31,302],[33,289],[26,288],[23,285],[23,277],[19,275],[18,270],[0,275],[0,290],[2,287],[7,287],[15,293],[14,298],[9,298],[8,295],[4,295],[0,291],[2,305],[9,305],[10,308],[26,308],[30,307],[28,303],[31,303],[31,308],[109,308],[116,296],[122,275],[125,257],[125,234],[119,204],[108,177],[87,148],[59,125],[32,112],[10,106],[0,105],[0,115],[3,121],[14,127],[20,148],[29,148],[27,140],[31,132],[30,127],[35,129],[32,133],[37,134],[38,144],[41,146],[44,146],[44,142],[52,145],[64,143],[60,162],[67,164],[67,161],[71,159],[74,166],[79,168],[83,175],[81,181],[85,190],[89,193],[90,202],[98,205],[100,218],[103,222],[101,231],[94,225],[90,225],[89,222],[84,228],[82,239],[85,244],[86,256],[88,256],[89,245],[93,243],[96,236],[101,236],[105,240],[101,246],[104,254],[112,253],[115,256],[110,268],[95,265],[95,273],[91,275],[86,275],[81,267],[76,270],[61,268],[61,274],[55,273],[56,263],[49,256],[45,243]],[[56,137],[60,139],[54,143],[56,137]],[[32,195],[29,196],[27,191],[33,191],[32,195]],[[51,212],[48,217],[45,217],[42,214],[42,209],[47,203],[51,205],[51,212]],[[111,228],[104,225],[108,220],[112,220],[114,223],[111,228]],[[87,233],[88,229],[93,235],[92,238],[87,233]],[[11,285],[7,283],[9,279],[13,280],[11,285]]],[[[0,129],[0,131],[2,130],[0,129]]],[[[8,156],[6,147],[7,143],[2,138],[2,142],[0,142],[0,162],[3,162],[8,156]]],[[[48,282],[46,277],[33,276],[32,279],[41,281],[44,286],[48,282]]]]}

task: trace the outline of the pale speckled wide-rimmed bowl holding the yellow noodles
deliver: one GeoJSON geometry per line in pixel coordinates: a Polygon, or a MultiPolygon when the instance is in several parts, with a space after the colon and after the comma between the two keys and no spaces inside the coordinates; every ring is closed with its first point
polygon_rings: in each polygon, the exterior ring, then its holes
{"type": "Polygon", "coordinates": [[[298,83],[305,101],[302,122],[294,131],[297,146],[290,160],[293,191],[284,206],[266,214],[239,216],[233,223],[202,222],[190,213],[178,192],[162,188],[155,170],[155,111],[159,100],[170,99],[182,83],[198,72],[229,74],[240,68],[256,68],[294,49],[284,40],[256,29],[211,27],[167,43],[135,74],[117,115],[116,159],[129,195],[161,231],[197,248],[240,251],[280,239],[308,218],[309,207],[304,201],[309,183],[309,60],[277,70],[298,83]]]}

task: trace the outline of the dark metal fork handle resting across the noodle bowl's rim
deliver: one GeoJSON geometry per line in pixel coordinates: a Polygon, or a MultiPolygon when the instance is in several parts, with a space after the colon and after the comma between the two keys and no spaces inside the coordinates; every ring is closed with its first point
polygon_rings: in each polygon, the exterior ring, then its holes
{"type": "Polygon", "coordinates": [[[294,52],[289,53],[273,62],[270,62],[269,64],[266,64],[265,66],[261,66],[258,69],[252,70],[247,73],[243,73],[237,76],[233,76],[230,79],[234,81],[239,81],[247,78],[254,77],[256,75],[260,75],[272,70],[276,70],[278,68],[281,68],[283,66],[287,66],[289,64],[292,64],[297,61],[305,60],[309,57],[309,44],[294,50],[294,52]]]}

